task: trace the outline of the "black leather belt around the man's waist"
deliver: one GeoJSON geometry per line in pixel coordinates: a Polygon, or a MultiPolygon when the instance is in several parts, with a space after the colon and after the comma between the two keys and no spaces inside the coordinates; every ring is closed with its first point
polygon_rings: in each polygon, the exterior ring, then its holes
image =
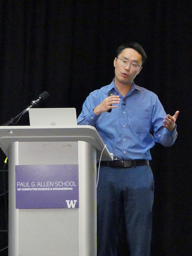
{"type": "Polygon", "coordinates": [[[134,166],[141,166],[141,165],[149,165],[149,160],[126,160],[126,161],[101,161],[100,165],[110,166],[110,167],[134,167],[134,166]]]}

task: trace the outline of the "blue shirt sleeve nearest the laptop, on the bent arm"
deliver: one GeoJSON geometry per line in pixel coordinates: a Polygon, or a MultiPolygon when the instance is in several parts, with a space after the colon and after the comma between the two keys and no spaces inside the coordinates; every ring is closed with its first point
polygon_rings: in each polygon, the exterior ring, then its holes
{"type": "Polygon", "coordinates": [[[96,97],[94,97],[93,93],[90,93],[83,104],[81,114],[77,118],[77,124],[95,126],[95,123],[97,122],[100,115],[95,115],[93,110],[99,104],[100,103],[97,103],[96,97]]]}

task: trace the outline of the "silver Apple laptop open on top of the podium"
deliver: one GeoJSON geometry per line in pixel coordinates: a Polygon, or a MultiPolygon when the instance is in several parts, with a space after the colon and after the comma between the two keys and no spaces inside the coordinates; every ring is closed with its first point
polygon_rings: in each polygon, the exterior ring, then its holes
{"type": "Polygon", "coordinates": [[[30,125],[77,125],[75,108],[30,108],[30,125]]]}

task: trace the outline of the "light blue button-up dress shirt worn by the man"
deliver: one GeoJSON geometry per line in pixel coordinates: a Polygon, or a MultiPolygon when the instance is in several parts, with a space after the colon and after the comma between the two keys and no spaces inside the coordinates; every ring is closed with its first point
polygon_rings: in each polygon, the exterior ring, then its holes
{"type": "Polygon", "coordinates": [[[133,82],[131,90],[123,97],[113,81],[90,93],[77,118],[77,124],[94,126],[118,160],[150,160],[150,148],[155,145],[155,141],[169,147],[177,138],[176,128],[169,132],[163,127],[165,116],[164,108],[155,93],[133,82]],[[95,115],[93,109],[108,97],[109,91],[119,95],[120,103],[110,113],[95,115]]]}

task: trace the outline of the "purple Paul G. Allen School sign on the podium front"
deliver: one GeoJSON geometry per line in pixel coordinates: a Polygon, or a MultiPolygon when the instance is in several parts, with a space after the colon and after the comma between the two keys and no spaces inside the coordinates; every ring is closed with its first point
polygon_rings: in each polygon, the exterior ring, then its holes
{"type": "Polygon", "coordinates": [[[16,165],[17,209],[78,208],[78,164],[16,165]]]}

